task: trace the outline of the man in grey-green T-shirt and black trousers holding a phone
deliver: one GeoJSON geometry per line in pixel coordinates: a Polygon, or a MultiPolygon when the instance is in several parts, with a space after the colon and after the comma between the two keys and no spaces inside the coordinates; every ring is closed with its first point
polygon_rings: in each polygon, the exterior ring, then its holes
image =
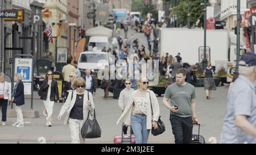
{"type": "Polygon", "coordinates": [[[195,87],[185,82],[186,70],[179,69],[176,73],[176,82],[166,89],[163,104],[169,110],[172,133],[176,144],[188,144],[191,141],[193,123],[196,118],[195,87]],[[168,101],[171,99],[171,105],[168,101]]]}

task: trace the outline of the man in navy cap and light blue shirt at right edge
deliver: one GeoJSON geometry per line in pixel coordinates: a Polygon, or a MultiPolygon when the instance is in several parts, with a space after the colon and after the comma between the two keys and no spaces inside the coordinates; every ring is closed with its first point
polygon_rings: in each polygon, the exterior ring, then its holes
{"type": "Polygon", "coordinates": [[[247,52],[239,62],[239,74],[228,95],[220,143],[256,143],[256,55],[247,52]]]}

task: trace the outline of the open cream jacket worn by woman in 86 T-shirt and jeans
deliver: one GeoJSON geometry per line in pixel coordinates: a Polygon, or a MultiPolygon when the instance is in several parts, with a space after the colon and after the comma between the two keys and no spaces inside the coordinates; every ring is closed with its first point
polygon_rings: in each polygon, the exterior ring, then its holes
{"type": "MultiPolygon", "coordinates": [[[[131,94],[131,99],[129,100],[129,103],[127,104],[125,110],[123,111],[123,114],[117,120],[117,124],[119,124],[121,122],[126,125],[131,125],[131,116],[132,116],[133,110],[134,110],[134,106],[133,106],[134,97],[138,91],[139,90],[135,90],[131,94]]],[[[148,105],[147,105],[147,129],[151,129],[152,128],[152,120],[158,121],[158,119],[159,119],[159,115],[160,115],[159,103],[158,103],[158,99],[156,98],[155,93],[151,90],[147,90],[146,98],[147,98],[147,103],[148,103],[148,105]],[[153,108],[153,113],[154,113],[153,118],[152,118],[151,105],[150,105],[150,96],[151,96],[151,103],[152,103],[152,108],[153,108]]]]}

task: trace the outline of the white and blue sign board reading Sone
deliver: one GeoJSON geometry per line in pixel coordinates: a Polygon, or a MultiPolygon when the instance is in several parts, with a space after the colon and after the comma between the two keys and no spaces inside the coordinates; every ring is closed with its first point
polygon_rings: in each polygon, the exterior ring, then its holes
{"type": "Polygon", "coordinates": [[[32,82],[32,58],[15,58],[15,72],[20,73],[23,82],[32,82]]]}

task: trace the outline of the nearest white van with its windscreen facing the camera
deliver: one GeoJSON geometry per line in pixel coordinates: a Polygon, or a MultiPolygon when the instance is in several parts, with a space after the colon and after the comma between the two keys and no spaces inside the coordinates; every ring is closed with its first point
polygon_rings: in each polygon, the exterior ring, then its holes
{"type": "Polygon", "coordinates": [[[97,74],[98,70],[104,69],[109,64],[110,58],[107,52],[81,52],[77,68],[90,69],[93,74],[97,74]]]}

